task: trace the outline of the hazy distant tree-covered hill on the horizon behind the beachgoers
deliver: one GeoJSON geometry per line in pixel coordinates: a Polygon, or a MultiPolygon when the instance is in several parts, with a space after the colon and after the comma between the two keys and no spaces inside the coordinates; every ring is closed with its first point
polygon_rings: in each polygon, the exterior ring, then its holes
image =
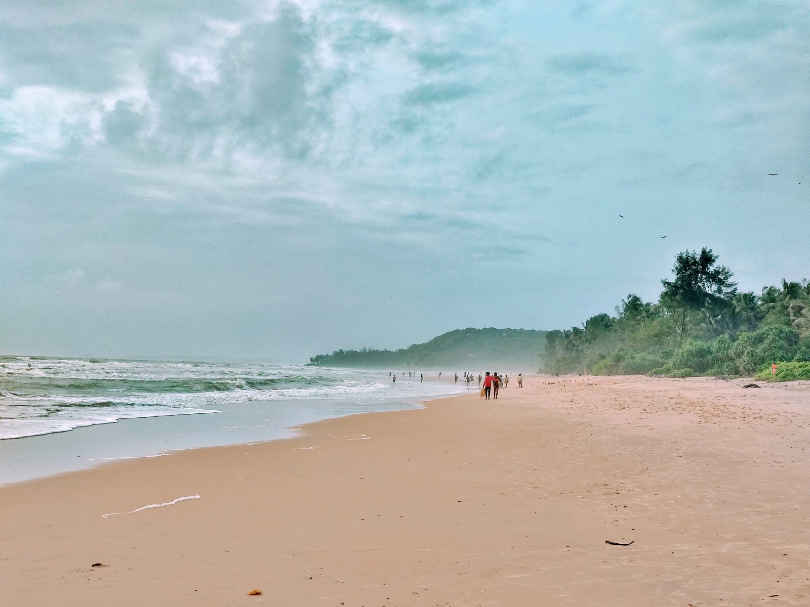
{"type": "Polygon", "coordinates": [[[456,329],[429,342],[399,350],[335,350],[309,359],[324,367],[365,367],[396,370],[447,368],[448,371],[536,371],[546,331],[533,329],[456,329]],[[499,367],[495,369],[494,366],[499,367]],[[455,368],[454,368],[455,367],[455,368]]]}

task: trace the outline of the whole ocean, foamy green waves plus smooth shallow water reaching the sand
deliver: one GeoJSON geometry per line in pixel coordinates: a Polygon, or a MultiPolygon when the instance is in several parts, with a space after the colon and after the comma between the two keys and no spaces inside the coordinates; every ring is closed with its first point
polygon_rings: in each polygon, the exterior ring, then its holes
{"type": "Polygon", "coordinates": [[[388,371],[262,363],[0,356],[0,483],[126,457],[295,435],[467,388],[388,371]]]}

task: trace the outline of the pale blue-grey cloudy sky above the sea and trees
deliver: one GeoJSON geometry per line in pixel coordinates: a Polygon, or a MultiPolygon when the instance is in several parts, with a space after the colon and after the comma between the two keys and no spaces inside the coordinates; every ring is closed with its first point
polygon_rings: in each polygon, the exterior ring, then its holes
{"type": "Polygon", "coordinates": [[[562,329],[704,246],[808,277],[807,8],[4,0],[0,351],[562,329]]]}

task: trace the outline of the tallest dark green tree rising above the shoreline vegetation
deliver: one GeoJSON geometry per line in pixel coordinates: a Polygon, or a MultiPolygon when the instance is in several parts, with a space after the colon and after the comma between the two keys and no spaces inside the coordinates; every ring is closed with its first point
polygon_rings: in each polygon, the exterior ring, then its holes
{"type": "Polygon", "coordinates": [[[680,314],[680,320],[676,316],[676,323],[680,322],[679,342],[684,338],[689,312],[727,304],[736,293],[737,284],[731,281],[734,274],[725,265],[715,265],[717,260],[718,256],[706,247],[700,253],[678,253],[672,266],[675,280],[661,281],[661,303],[680,314]]]}

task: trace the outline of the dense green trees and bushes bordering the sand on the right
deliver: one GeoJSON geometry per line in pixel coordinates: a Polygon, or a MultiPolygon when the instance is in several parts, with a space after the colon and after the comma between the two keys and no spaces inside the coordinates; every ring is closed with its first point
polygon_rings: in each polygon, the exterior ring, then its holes
{"type": "Polygon", "coordinates": [[[810,282],[742,293],[710,248],[676,256],[658,302],[630,294],[616,316],[551,331],[545,371],[597,375],[753,376],[810,379],[810,282]],[[766,372],[765,372],[766,371],[766,372]]]}

